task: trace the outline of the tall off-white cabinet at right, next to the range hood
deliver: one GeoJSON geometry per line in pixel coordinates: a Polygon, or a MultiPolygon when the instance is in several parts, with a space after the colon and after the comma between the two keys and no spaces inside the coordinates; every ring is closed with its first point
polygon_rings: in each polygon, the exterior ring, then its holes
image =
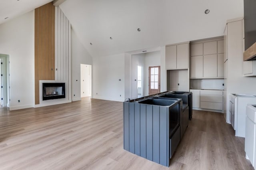
{"type": "MultiPolygon", "coordinates": [[[[242,76],[243,65],[243,29],[242,19],[236,18],[228,20],[224,32],[224,99],[225,109],[230,108],[228,95],[231,93],[246,93],[246,85],[241,86],[241,82],[246,83],[242,76]]],[[[226,111],[224,117],[227,123],[230,113],[226,111]]]]}

